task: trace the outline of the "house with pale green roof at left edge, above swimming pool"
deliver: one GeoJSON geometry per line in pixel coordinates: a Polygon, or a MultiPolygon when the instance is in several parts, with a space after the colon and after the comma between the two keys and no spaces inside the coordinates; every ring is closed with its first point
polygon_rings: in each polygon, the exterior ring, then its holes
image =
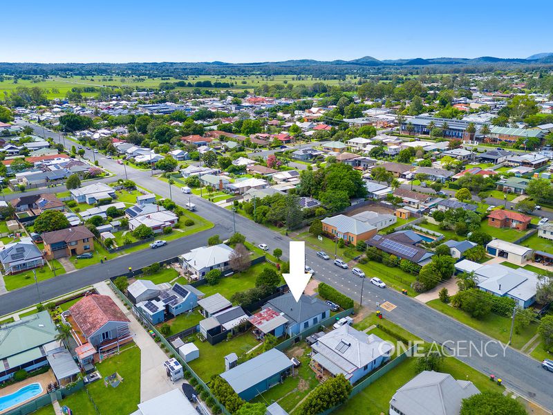
{"type": "Polygon", "coordinates": [[[48,311],[0,326],[0,382],[15,372],[48,365],[48,352],[59,348],[57,329],[48,311]]]}

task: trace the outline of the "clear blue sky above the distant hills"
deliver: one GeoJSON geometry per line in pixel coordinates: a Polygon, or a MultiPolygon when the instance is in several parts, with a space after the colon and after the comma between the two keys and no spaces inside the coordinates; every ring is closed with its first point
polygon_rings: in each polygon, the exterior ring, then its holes
{"type": "Polygon", "coordinates": [[[0,62],[527,57],[553,52],[552,14],[550,0],[6,1],[0,62]]]}

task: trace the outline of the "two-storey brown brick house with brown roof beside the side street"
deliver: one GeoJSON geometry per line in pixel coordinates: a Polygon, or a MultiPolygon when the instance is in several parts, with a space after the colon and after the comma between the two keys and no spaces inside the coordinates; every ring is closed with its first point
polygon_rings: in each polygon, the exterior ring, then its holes
{"type": "Polygon", "coordinates": [[[42,239],[46,259],[72,257],[94,250],[94,234],[84,225],[45,232],[42,239]]]}

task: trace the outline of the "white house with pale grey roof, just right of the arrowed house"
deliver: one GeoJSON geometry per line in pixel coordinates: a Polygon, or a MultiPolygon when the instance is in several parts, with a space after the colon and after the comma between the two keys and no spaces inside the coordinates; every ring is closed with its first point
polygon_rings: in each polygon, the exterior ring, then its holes
{"type": "Polygon", "coordinates": [[[355,383],[390,359],[393,344],[344,324],[312,344],[311,368],[317,375],[342,374],[355,383]]]}

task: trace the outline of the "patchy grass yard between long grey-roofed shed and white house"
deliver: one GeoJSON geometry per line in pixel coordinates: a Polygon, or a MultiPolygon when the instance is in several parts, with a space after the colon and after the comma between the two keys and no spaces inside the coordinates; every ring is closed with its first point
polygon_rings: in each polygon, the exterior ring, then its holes
{"type": "Polygon", "coordinates": [[[266,405],[278,402],[286,412],[292,413],[292,409],[294,409],[312,389],[315,389],[315,387],[319,385],[319,380],[315,377],[315,372],[309,367],[310,356],[308,356],[308,353],[310,351],[310,347],[308,347],[305,342],[301,342],[299,346],[292,347],[292,349],[285,351],[288,357],[295,356],[301,362],[300,367],[294,369],[293,376],[288,376],[281,384],[256,396],[252,402],[261,402],[266,405]]]}

